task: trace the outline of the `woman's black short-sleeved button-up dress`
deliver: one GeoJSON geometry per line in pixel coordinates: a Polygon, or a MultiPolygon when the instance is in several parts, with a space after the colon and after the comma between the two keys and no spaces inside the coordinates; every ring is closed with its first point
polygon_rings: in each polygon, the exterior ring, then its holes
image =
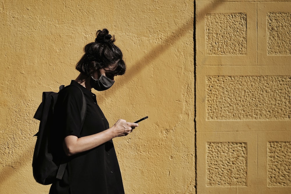
{"type": "Polygon", "coordinates": [[[65,156],[63,139],[68,135],[84,137],[109,128],[109,123],[91,91],[72,80],[70,85],[80,87],[84,93],[87,112],[81,127],[81,91],[74,86],[64,88],[55,106],[53,152],[68,162],[62,180],[52,184],[49,193],[124,193],[120,169],[112,140],[86,152],[65,156]]]}

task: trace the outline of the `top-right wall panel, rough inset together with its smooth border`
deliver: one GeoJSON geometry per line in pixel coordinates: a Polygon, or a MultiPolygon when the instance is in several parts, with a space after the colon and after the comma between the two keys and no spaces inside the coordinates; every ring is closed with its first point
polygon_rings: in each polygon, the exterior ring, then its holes
{"type": "Polygon", "coordinates": [[[291,65],[291,2],[257,3],[258,65],[291,65]]]}

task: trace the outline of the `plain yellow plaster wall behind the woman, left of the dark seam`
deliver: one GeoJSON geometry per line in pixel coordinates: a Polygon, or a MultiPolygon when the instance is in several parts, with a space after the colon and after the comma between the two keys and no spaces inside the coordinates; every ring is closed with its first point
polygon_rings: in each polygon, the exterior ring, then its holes
{"type": "Polygon", "coordinates": [[[111,126],[149,116],[114,139],[125,192],[195,193],[193,23],[191,0],[0,1],[0,193],[48,193],[32,176],[33,115],[102,28],[127,72],[96,92],[100,107],[111,126]]]}

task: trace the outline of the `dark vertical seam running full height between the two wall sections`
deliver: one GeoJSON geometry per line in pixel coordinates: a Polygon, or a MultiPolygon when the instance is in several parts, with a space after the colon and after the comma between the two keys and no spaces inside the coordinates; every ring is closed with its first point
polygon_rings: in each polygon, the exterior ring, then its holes
{"type": "Polygon", "coordinates": [[[194,0],[193,19],[193,49],[194,49],[194,147],[195,147],[195,193],[197,194],[197,140],[196,140],[196,0],[194,0]]]}

